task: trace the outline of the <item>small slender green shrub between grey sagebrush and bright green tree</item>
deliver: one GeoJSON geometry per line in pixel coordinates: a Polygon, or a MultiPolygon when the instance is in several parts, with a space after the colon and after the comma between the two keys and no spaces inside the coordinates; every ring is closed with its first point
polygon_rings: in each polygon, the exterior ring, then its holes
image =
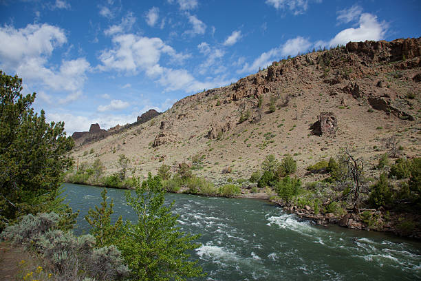
{"type": "Polygon", "coordinates": [[[107,189],[101,192],[101,207],[95,206],[95,210],[89,209],[85,220],[91,225],[91,234],[96,239],[96,244],[100,247],[109,246],[116,238],[116,233],[122,226],[122,218],[111,224],[111,215],[114,214],[114,202],[107,203],[107,189]]]}

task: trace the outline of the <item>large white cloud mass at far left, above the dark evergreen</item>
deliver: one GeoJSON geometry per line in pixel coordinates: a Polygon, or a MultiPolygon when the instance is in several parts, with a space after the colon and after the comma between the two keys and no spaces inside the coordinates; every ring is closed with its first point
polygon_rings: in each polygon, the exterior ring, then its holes
{"type": "MultiPolygon", "coordinates": [[[[46,87],[50,90],[70,92],[56,102],[67,103],[81,96],[90,70],[85,58],[61,61],[60,67],[50,67],[50,56],[55,48],[67,42],[65,32],[53,25],[27,25],[19,30],[5,26],[0,28],[0,41],[8,42],[0,49],[0,67],[8,72],[16,72],[25,83],[46,87]]],[[[43,90],[42,88],[37,90],[43,90]]],[[[50,97],[41,95],[43,100],[50,97]]]]}

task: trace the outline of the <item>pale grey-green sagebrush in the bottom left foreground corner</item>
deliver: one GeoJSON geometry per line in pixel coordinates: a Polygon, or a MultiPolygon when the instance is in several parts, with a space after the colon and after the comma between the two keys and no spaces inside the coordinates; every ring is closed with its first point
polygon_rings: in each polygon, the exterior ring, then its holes
{"type": "Polygon", "coordinates": [[[55,213],[28,214],[6,227],[1,238],[41,255],[55,280],[122,280],[127,276],[129,269],[115,246],[96,248],[94,236],[75,237],[59,230],[60,220],[55,213]]]}

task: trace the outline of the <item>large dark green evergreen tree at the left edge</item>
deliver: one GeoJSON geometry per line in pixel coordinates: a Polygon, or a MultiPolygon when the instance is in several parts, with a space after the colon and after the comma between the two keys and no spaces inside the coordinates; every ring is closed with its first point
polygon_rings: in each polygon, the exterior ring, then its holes
{"type": "Polygon", "coordinates": [[[31,107],[36,94],[23,96],[22,79],[0,71],[0,229],[25,214],[64,211],[63,171],[72,167],[74,141],[64,123],[47,123],[31,107]]]}

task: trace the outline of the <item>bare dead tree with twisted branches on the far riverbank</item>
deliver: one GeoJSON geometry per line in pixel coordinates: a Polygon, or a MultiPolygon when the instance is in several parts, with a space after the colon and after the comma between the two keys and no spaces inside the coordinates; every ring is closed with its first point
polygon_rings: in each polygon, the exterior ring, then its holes
{"type": "Polygon", "coordinates": [[[344,174],[346,179],[351,179],[353,183],[352,191],[354,193],[354,213],[358,214],[358,203],[360,198],[360,188],[363,179],[364,163],[361,158],[355,158],[352,156],[350,149],[347,147],[343,149],[343,164],[347,167],[347,172],[344,174]]]}

